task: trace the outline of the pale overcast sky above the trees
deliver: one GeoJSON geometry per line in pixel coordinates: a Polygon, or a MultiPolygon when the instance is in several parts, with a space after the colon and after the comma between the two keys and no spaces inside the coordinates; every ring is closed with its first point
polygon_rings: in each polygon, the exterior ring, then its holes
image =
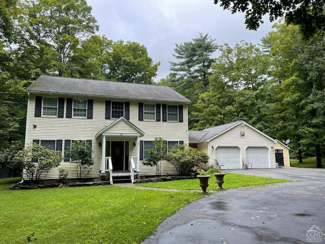
{"type": "Polygon", "coordinates": [[[87,4],[100,35],[143,44],[153,62],[160,62],[156,81],[170,73],[168,62],[175,61],[176,43],[209,33],[218,45],[233,47],[241,40],[257,44],[272,26],[266,19],[257,31],[248,31],[243,14],[232,15],[213,0],[87,0],[87,4]]]}

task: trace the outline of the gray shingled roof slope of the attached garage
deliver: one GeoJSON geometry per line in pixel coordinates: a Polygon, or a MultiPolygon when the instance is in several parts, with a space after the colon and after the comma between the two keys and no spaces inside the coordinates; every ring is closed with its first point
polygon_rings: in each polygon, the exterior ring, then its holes
{"type": "Polygon", "coordinates": [[[225,131],[233,128],[237,124],[240,124],[242,120],[235,121],[229,124],[216,126],[208,129],[204,129],[202,131],[188,131],[188,141],[189,142],[203,142],[208,141],[211,138],[214,138],[225,131]]]}

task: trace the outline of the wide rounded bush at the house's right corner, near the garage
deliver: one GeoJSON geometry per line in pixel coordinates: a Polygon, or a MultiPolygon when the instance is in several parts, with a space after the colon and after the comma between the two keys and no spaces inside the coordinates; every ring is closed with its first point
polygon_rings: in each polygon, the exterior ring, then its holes
{"type": "Polygon", "coordinates": [[[208,163],[209,156],[204,151],[188,145],[176,144],[167,153],[167,161],[171,163],[179,175],[190,175],[195,172],[194,167],[208,163]]]}

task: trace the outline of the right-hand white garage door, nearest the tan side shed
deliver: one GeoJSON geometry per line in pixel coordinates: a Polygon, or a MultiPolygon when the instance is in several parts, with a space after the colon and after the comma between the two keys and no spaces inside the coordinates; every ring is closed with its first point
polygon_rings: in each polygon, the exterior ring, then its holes
{"type": "Polygon", "coordinates": [[[247,147],[247,162],[252,164],[252,168],[269,168],[269,150],[266,147],[247,147]]]}

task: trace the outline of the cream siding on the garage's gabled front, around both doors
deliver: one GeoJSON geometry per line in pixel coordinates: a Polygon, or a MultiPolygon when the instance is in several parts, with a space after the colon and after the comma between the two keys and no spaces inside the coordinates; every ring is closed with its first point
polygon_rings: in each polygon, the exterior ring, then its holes
{"type": "MultiPolygon", "coordinates": [[[[270,168],[275,168],[275,151],[272,150],[272,146],[274,147],[274,141],[265,137],[264,135],[258,133],[257,131],[251,129],[250,127],[244,125],[238,125],[233,129],[221,134],[220,136],[212,139],[209,142],[209,148],[214,146],[217,148],[218,146],[237,146],[240,148],[240,162],[242,168],[242,159],[246,158],[246,148],[250,147],[267,147],[268,155],[270,160],[270,168]],[[245,135],[241,136],[240,133],[244,132],[245,135]]],[[[209,152],[209,163],[211,165],[215,165],[215,151],[209,152]]]]}

